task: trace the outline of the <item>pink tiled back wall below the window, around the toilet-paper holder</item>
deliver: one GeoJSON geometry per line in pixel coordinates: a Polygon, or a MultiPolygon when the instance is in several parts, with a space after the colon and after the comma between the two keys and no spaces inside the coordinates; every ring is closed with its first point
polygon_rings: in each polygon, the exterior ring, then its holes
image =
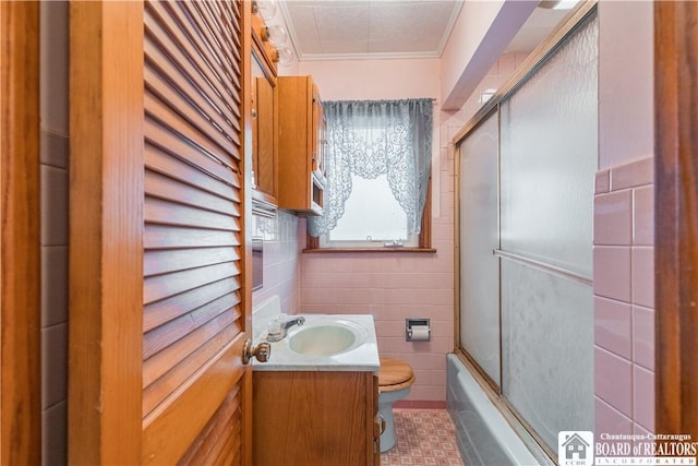
{"type": "Polygon", "coordinates": [[[454,339],[452,228],[435,218],[433,235],[435,254],[302,258],[302,311],[372,314],[380,354],[401,358],[414,370],[417,382],[408,399],[446,399],[445,355],[453,351],[454,339]],[[431,320],[431,342],[405,340],[405,319],[411,316],[431,320]]]}

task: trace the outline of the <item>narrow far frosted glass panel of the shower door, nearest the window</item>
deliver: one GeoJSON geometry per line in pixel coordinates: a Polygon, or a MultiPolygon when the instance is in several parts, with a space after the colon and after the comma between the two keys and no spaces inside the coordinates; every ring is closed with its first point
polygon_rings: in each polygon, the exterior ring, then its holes
{"type": "Polygon", "coordinates": [[[497,118],[460,145],[460,345],[500,384],[497,118]]]}

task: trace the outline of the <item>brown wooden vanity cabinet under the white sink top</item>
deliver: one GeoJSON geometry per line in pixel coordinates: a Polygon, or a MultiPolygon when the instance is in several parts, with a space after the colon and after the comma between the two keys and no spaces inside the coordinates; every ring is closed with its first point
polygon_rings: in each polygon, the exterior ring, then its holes
{"type": "Polygon", "coordinates": [[[378,465],[373,372],[255,371],[255,465],[378,465]]]}

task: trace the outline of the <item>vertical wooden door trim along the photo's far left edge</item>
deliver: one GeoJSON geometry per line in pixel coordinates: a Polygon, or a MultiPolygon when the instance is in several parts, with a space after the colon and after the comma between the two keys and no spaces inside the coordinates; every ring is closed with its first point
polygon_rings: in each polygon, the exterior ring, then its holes
{"type": "Polygon", "coordinates": [[[39,2],[0,2],[0,464],[41,463],[39,2]]]}

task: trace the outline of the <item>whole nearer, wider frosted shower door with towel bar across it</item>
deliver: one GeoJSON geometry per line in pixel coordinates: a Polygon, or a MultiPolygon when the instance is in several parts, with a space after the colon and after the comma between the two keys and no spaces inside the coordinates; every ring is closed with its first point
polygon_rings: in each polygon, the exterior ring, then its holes
{"type": "Polygon", "coordinates": [[[550,446],[593,430],[597,24],[502,103],[502,390],[550,446]]]}

